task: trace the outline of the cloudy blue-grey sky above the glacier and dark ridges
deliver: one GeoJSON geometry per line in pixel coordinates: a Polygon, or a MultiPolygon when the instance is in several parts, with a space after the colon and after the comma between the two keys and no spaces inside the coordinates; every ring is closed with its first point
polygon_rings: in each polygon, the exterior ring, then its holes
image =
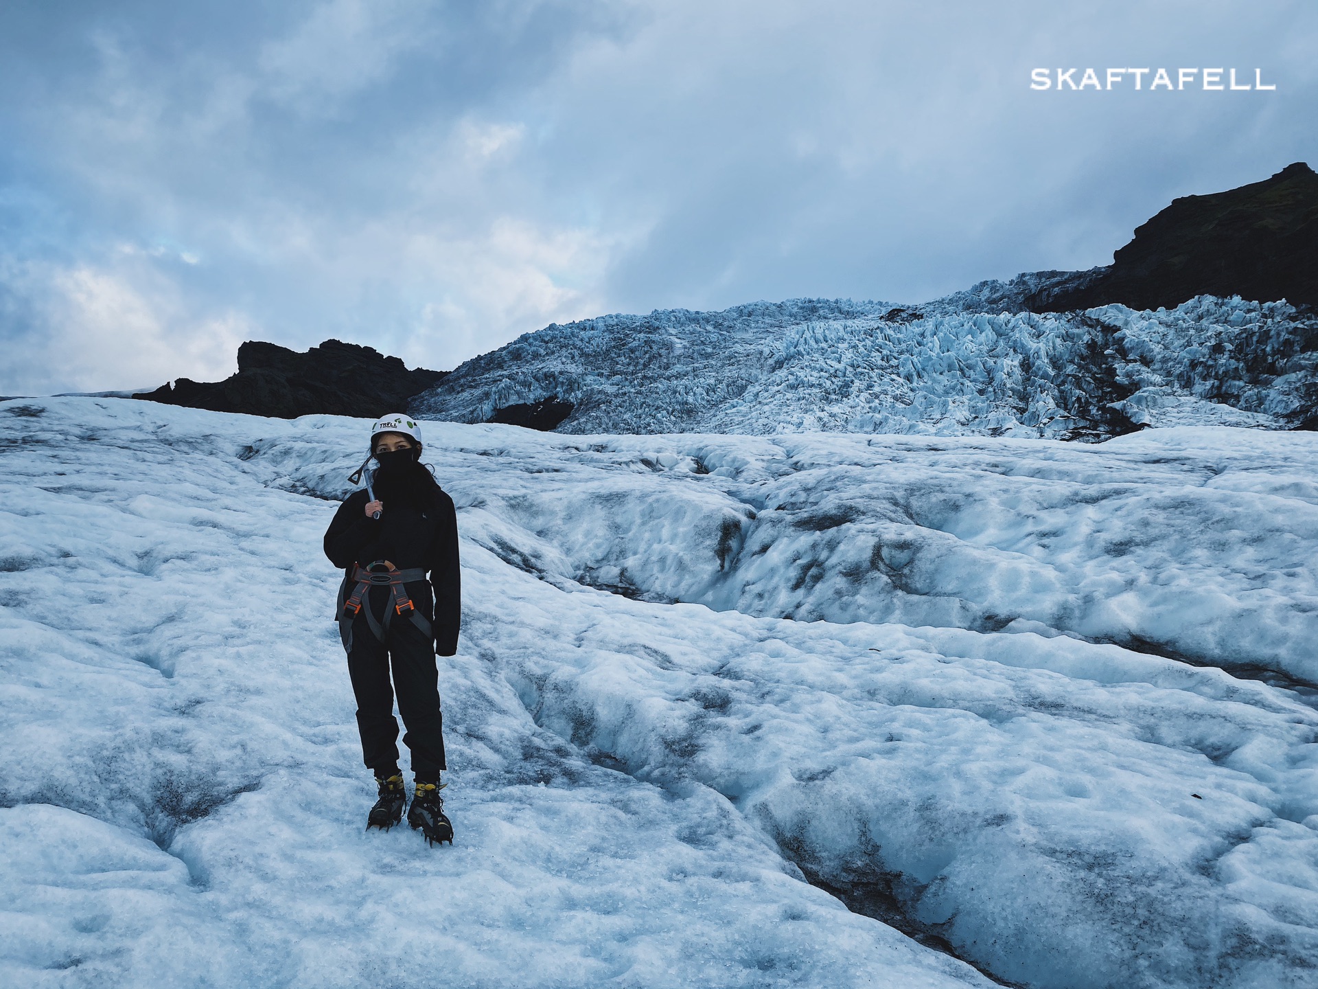
{"type": "Polygon", "coordinates": [[[0,394],[1107,264],[1318,166],[1315,50],[1311,0],[7,0],[0,394]],[[1090,66],[1277,88],[1029,88],[1090,66]]]}

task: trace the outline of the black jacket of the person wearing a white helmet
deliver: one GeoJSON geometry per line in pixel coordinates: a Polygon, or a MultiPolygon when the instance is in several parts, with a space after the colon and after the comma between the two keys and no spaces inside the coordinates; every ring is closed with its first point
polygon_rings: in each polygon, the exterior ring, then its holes
{"type": "MultiPolygon", "coordinates": [[[[430,580],[406,585],[407,596],[422,614],[431,618],[435,651],[440,655],[457,651],[457,628],[463,617],[457,513],[453,500],[442,489],[435,488],[432,504],[424,509],[386,508],[378,520],[366,516],[366,492],[353,492],[339,505],[326,531],[326,556],[347,571],[345,580],[353,563],[365,567],[385,559],[399,570],[419,567],[428,571],[430,580]]],[[[372,597],[376,604],[376,595],[372,597]]]]}

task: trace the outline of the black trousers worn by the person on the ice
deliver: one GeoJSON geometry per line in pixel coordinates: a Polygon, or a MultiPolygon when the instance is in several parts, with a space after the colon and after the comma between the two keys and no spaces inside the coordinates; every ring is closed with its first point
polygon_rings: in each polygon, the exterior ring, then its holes
{"type": "Polygon", "coordinates": [[[398,721],[389,683],[391,661],[398,713],[407,728],[403,745],[411,749],[413,771],[423,782],[438,782],[439,771],[448,765],[444,762],[444,716],[439,711],[435,645],[413,622],[398,616],[390,622],[385,640],[374,637],[365,614],[353,621],[348,674],[357,696],[362,762],[377,775],[398,765],[398,721]]]}

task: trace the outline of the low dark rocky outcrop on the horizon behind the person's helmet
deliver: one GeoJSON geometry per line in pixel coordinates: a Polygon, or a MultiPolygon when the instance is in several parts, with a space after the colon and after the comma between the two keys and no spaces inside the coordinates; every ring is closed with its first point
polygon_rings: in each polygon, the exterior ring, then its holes
{"type": "Polygon", "coordinates": [[[447,373],[409,371],[398,357],[340,340],[326,340],[306,353],[249,340],[239,347],[237,375],[216,382],[181,377],[173,386],[133,398],[282,419],[314,414],[374,418],[406,410],[414,394],[447,373]]]}

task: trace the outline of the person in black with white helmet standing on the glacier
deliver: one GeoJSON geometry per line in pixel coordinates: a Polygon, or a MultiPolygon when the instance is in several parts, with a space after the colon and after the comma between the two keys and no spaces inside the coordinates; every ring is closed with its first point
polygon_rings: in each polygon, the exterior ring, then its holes
{"type": "Polygon", "coordinates": [[[403,745],[411,750],[415,774],[407,823],[430,844],[452,844],[453,827],[439,795],[440,773],[448,765],[435,655],[457,651],[457,514],[420,454],[415,419],[402,414],[378,419],[370,427],[366,463],[352,476],[356,483],[365,475],[366,488],[339,506],[324,550],[344,570],[339,632],[357,698],[362,761],[380,790],[366,827],[387,831],[402,819],[407,802],[398,769],[397,691],[407,729],[403,745]],[[372,460],[376,467],[368,469],[372,460]]]}

